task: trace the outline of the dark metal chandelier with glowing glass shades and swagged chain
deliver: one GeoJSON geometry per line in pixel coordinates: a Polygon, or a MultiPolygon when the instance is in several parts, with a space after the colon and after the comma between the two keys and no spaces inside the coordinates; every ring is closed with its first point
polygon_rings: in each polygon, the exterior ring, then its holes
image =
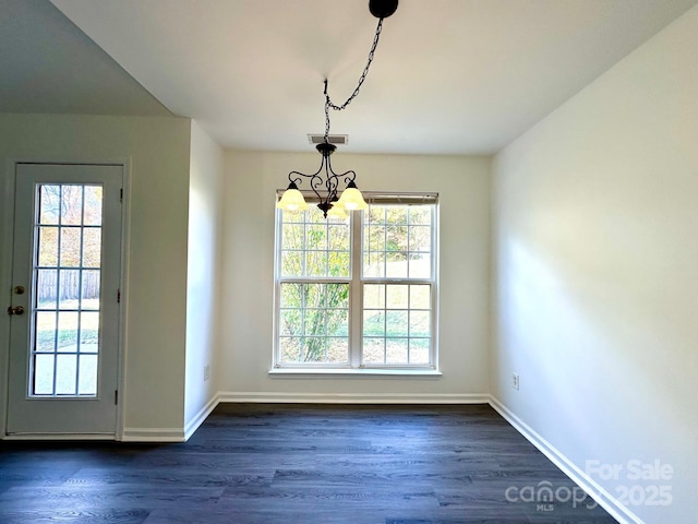
{"type": "Polygon", "coordinates": [[[335,144],[329,143],[329,110],[341,111],[351,104],[357,95],[361,85],[369,74],[371,62],[373,62],[373,56],[375,49],[378,46],[378,39],[381,38],[381,31],[383,28],[383,20],[390,16],[397,9],[398,0],[370,0],[369,10],[376,19],[378,19],[378,25],[375,29],[375,36],[373,37],[373,45],[369,51],[369,59],[359,78],[357,87],[353,93],[347,98],[347,100],[337,105],[332,102],[327,92],[327,80],[325,80],[325,135],[323,142],[315,147],[322,155],[320,160],[320,168],[312,174],[304,174],[300,171],[291,171],[288,174],[289,184],[281,199],[277,202],[276,206],[284,211],[297,212],[309,209],[303,193],[300,192],[298,186],[302,183],[303,178],[310,179],[310,189],[313,190],[315,196],[318,200],[317,207],[323,212],[325,218],[327,216],[334,216],[338,218],[346,218],[348,212],[365,210],[369,205],[363,200],[361,192],[357,188],[354,182],[357,174],[353,170],[345,172],[335,172],[332,168],[330,155],[337,148],[335,144]],[[339,194],[340,187],[345,186],[344,191],[339,194]]]}

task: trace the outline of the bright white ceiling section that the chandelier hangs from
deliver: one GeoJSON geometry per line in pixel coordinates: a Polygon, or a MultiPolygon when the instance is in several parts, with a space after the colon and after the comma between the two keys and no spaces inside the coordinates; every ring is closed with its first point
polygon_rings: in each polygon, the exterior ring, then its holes
{"type": "MultiPolygon", "coordinates": [[[[51,1],[170,111],[236,148],[309,151],[323,80],[341,104],[377,23],[368,0],[51,1]]],[[[332,132],[350,152],[496,152],[696,3],[401,0],[332,132]]]]}

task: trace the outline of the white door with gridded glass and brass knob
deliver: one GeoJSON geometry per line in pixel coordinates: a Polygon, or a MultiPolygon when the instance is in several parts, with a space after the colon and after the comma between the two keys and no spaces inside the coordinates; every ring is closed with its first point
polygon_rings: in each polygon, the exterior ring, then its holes
{"type": "Polygon", "coordinates": [[[122,174],[16,165],[8,434],[116,434],[122,174]]]}

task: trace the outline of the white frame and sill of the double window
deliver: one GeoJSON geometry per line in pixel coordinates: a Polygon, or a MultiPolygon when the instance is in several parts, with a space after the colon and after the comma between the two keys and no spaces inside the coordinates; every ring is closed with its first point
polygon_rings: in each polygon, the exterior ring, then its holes
{"type": "MultiPolygon", "coordinates": [[[[277,191],[277,200],[282,193],[277,191]]],[[[313,202],[313,193],[303,193],[310,205],[313,202]]],[[[275,264],[274,264],[274,352],[270,374],[424,374],[441,376],[438,371],[438,194],[437,193],[377,193],[363,192],[364,199],[371,204],[432,204],[432,251],[431,251],[431,278],[409,277],[364,277],[363,276],[363,216],[353,212],[349,218],[350,224],[350,269],[349,277],[282,277],[281,276],[281,216],[280,210],[275,217],[275,264]],[[349,285],[349,355],[348,364],[334,362],[284,362],[280,359],[280,289],[285,282],[299,283],[346,283],[349,285]],[[428,284],[431,286],[431,348],[429,364],[364,364],[363,358],[363,287],[365,284],[383,285],[416,285],[428,284]],[[354,319],[358,319],[354,321],[354,319]]],[[[409,336],[408,336],[409,340],[409,336]]]]}

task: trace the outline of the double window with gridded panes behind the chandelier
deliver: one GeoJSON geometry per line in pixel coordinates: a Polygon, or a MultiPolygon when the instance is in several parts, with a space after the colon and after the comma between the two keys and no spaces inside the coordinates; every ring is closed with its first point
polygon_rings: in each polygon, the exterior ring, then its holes
{"type": "Polygon", "coordinates": [[[435,369],[436,195],[364,196],[277,210],[276,368],[435,369]]]}

